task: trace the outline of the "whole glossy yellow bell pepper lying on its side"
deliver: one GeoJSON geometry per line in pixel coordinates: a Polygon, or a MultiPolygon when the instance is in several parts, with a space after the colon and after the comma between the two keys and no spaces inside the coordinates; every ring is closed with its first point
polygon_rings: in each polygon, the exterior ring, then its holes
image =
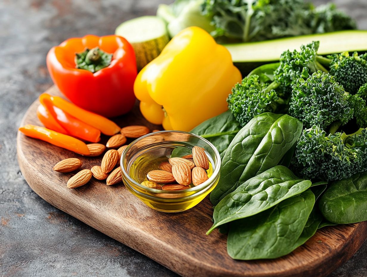
{"type": "Polygon", "coordinates": [[[228,50],[203,29],[189,27],[139,72],[134,92],[148,121],[190,131],[226,111],[226,98],[240,81],[228,50]]]}

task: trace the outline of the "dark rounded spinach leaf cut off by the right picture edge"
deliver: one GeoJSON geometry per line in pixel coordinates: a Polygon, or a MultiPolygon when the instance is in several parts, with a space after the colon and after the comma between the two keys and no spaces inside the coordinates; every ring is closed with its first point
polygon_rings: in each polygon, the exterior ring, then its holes
{"type": "Polygon", "coordinates": [[[333,181],[320,199],[319,207],[326,220],[348,224],[367,220],[367,172],[333,181]]]}

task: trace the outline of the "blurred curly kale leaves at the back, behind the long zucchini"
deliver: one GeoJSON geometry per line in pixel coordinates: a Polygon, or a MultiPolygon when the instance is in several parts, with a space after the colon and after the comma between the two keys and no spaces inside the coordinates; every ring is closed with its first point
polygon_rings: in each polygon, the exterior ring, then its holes
{"type": "Polygon", "coordinates": [[[355,29],[335,5],[314,8],[305,0],[203,0],[202,13],[212,18],[215,37],[260,41],[287,36],[355,29]]]}

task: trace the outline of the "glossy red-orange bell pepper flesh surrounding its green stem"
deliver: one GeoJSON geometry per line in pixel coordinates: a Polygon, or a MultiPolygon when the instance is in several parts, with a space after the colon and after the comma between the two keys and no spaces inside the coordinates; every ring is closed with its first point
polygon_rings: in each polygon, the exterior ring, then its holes
{"type": "Polygon", "coordinates": [[[123,37],[71,38],[52,47],[46,62],[54,84],[77,106],[105,117],[126,114],[134,106],[136,60],[132,46],[123,37]],[[113,54],[110,65],[95,73],[75,68],[75,54],[94,47],[113,54]]]}

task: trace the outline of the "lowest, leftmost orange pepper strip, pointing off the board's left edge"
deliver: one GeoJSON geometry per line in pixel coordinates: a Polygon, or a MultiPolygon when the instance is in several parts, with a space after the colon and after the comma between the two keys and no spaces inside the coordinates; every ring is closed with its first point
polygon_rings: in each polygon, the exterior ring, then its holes
{"type": "Polygon", "coordinates": [[[30,136],[31,138],[41,139],[42,141],[46,141],[81,155],[90,154],[87,145],[79,139],[73,138],[72,136],[64,135],[59,132],[32,124],[24,125],[23,127],[19,128],[19,131],[26,136],[30,136]]]}

